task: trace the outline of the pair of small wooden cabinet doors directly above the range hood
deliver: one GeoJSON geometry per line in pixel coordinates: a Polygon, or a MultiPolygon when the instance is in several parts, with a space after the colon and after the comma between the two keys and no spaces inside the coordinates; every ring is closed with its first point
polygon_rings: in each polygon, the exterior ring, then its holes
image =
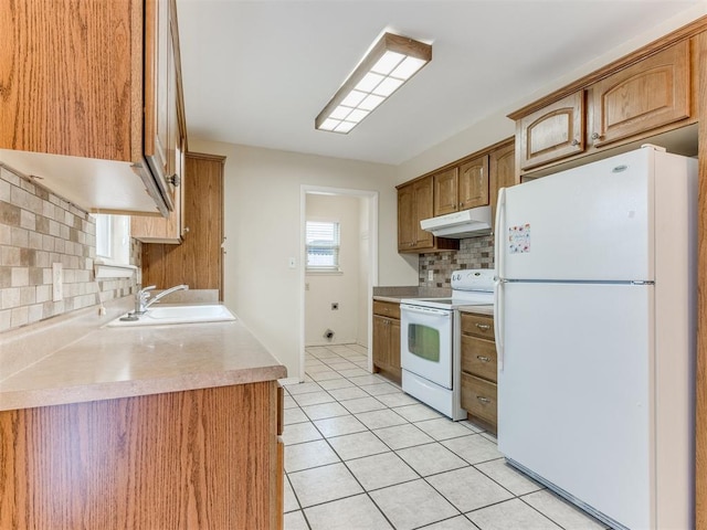
{"type": "Polygon", "coordinates": [[[488,157],[477,157],[434,174],[434,215],[488,204],[488,157]]]}

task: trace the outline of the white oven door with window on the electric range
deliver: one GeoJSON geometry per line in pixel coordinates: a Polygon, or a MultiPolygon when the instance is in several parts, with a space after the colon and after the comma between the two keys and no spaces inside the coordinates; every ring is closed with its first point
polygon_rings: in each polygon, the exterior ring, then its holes
{"type": "Polygon", "coordinates": [[[454,311],[400,305],[400,363],[445,389],[452,389],[452,315],[454,311]]]}

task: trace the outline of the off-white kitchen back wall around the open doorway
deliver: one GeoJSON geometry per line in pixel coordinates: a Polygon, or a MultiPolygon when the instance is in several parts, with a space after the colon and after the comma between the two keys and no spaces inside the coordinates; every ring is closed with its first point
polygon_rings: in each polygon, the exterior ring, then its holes
{"type": "Polygon", "coordinates": [[[189,149],[226,157],[224,303],[287,367],[288,377],[304,377],[302,264],[287,266],[291,256],[299,261],[304,245],[303,184],[378,192],[377,285],[416,285],[416,259],[397,251],[394,167],[192,138],[189,149]]]}

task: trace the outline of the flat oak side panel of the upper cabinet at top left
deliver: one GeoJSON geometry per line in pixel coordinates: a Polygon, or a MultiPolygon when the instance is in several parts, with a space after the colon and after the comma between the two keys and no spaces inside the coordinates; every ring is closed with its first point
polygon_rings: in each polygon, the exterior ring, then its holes
{"type": "Polygon", "coordinates": [[[136,160],[141,1],[1,2],[0,22],[0,147],[136,160]]]}

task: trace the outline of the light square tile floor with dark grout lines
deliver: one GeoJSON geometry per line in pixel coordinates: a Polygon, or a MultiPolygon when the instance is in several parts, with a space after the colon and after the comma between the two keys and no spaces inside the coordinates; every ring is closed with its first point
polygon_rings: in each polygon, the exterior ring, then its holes
{"type": "Polygon", "coordinates": [[[306,382],[285,386],[286,530],[606,528],[367,362],[357,344],[308,348],[306,382]]]}

